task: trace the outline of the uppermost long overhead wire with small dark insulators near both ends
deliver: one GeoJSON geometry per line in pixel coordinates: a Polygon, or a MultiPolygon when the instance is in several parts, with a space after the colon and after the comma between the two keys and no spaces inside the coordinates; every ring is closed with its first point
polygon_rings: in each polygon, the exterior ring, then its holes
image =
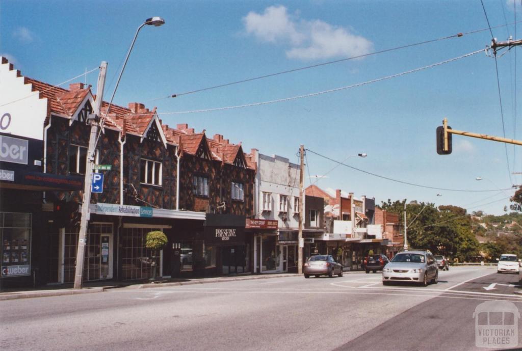
{"type": "MultiPolygon", "coordinates": [[[[517,22],[514,22],[514,23],[517,23],[517,22]]],[[[506,27],[506,26],[507,26],[507,23],[506,23],[506,25],[500,25],[500,26],[496,26],[496,27],[493,27],[493,28],[501,28],[501,27],[506,27]]],[[[177,98],[178,96],[182,96],[182,95],[188,95],[188,94],[193,94],[193,93],[197,93],[197,92],[201,92],[201,91],[207,91],[207,90],[212,90],[212,89],[228,87],[228,86],[232,86],[232,85],[235,85],[235,84],[246,83],[246,82],[250,82],[250,81],[254,81],[254,80],[258,80],[258,79],[270,78],[270,77],[275,77],[275,76],[279,76],[279,75],[283,75],[283,74],[287,74],[287,73],[297,72],[297,71],[301,71],[301,70],[305,70],[305,69],[311,69],[311,68],[316,68],[316,67],[336,64],[336,63],[352,60],[352,59],[355,59],[355,58],[362,58],[362,57],[367,57],[367,56],[372,56],[372,55],[377,55],[377,54],[383,54],[383,53],[390,52],[390,51],[406,49],[408,47],[413,47],[413,46],[433,43],[433,42],[436,42],[436,41],[441,41],[441,40],[446,40],[446,39],[464,37],[464,35],[479,33],[479,32],[483,32],[483,31],[486,31],[486,30],[490,30],[491,31],[491,28],[478,29],[478,30],[473,30],[473,31],[465,32],[465,33],[457,33],[457,34],[453,34],[453,35],[448,35],[447,37],[431,39],[431,40],[426,40],[426,41],[413,43],[413,44],[402,45],[402,46],[396,46],[396,47],[392,47],[390,49],[384,49],[384,50],[375,51],[375,52],[371,52],[371,53],[367,53],[367,54],[363,54],[363,55],[351,56],[351,57],[341,58],[341,59],[333,60],[333,61],[329,61],[329,62],[323,62],[323,63],[316,64],[316,65],[304,66],[304,67],[284,70],[284,71],[280,71],[280,72],[276,72],[276,73],[272,73],[272,74],[267,74],[267,75],[263,75],[263,76],[259,76],[259,77],[246,78],[246,79],[242,79],[242,80],[238,80],[238,81],[234,81],[234,82],[230,82],[230,83],[218,84],[216,86],[211,86],[211,87],[207,87],[207,88],[201,88],[201,89],[186,91],[186,92],[179,93],[179,94],[171,94],[171,95],[168,95],[168,96],[162,96],[161,98],[147,100],[146,102],[152,102],[152,101],[169,99],[169,98],[177,98]]]]}

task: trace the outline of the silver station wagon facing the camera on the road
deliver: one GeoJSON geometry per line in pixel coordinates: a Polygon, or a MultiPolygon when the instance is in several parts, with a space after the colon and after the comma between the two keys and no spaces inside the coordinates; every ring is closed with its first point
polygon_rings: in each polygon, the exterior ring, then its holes
{"type": "Polygon", "coordinates": [[[427,251],[399,252],[383,269],[383,285],[392,282],[438,283],[437,261],[427,251]]]}

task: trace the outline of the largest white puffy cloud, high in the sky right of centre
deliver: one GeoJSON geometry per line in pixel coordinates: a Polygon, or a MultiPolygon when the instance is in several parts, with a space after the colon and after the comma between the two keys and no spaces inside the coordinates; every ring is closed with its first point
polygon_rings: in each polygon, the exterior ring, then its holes
{"type": "Polygon", "coordinates": [[[302,60],[351,57],[367,54],[373,43],[347,28],[321,20],[290,16],[284,6],[267,7],[263,14],[253,11],[243,18],[245,30],[258,40],[289,45],[287,57],[302,60]]]}

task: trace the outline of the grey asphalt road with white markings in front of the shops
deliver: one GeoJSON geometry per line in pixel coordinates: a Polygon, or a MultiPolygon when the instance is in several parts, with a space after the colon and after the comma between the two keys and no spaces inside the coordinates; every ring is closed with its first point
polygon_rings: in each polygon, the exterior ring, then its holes
{"type": "Polygon", "coordinates": [[[439,273],[428,287],[357,272],[0,301],[0,349],[483,350],[473,312],[489,300],[520,309],[519,276],[439,273]]]}

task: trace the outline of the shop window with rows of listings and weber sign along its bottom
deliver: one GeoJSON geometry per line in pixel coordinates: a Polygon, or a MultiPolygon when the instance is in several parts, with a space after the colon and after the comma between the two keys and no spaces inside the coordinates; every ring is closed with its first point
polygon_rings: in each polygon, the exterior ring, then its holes
{"type": "Polygon", "coordinates": [[[2,277],[31,275],[31,213],[0,212],[2,277]]]}

